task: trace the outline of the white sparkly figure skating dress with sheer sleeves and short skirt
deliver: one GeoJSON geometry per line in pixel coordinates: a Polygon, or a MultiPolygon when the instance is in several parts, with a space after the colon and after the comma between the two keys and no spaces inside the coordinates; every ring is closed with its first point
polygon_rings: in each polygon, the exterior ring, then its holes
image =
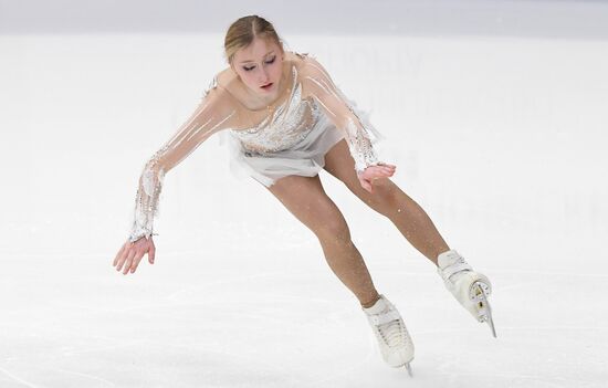
{"type": "Polygon", "coordinates": [[[265,186],[290,175],[312,177],[325,154],[346,139],[357,171],[378,164],[374,127],[308,55],[285,52],[287,87],[268,109],[250,109],[230,92],[234,74],[216,76],[195,113],[146,164],[139,178],[130,241],[153,234],[163,179],[202,141],[228,129],[233,162],[265,186]]]}

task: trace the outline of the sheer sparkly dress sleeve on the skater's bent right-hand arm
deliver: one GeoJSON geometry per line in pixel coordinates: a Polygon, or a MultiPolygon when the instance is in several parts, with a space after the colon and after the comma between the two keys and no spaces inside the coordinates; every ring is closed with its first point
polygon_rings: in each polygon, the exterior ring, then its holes
{"type": "Polygon", "coordinates": [[[304,94],[312,96],[332,123],[344,130],[357,172],[377,165],[378,157],[371,143],[379,138],[378,132],[357,113],[354,104],[344,96],[316,60],[308,55],[300,56],[304,60],[301,70],[304,94]]]}

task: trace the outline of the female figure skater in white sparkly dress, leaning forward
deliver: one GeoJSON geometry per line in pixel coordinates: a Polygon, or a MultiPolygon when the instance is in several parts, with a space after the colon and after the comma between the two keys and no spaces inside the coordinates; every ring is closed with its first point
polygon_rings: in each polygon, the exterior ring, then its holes
{"type": "MultiPolygon", "coordinates": [[[[380,162],[375,129],[350,106],[314,59],[283,50],[273,25],[258,15],[230,25],[220,72],[191,117],[146,164],[137,190],[128,241],[113,265],[134,273],[145,254],[154,263],[153,220],[163,178],[209,136],[230,129],[238,161],[315,235],[332,271],[359,301],[385,361],[413,359],[406,325],[379,294],[339,209],[318,178],[324,168],[438,266],[448,290],[478,321],[491,322],[491,284],[450,250],[427,213],[390,179],[395,166],[380,162]]],[[[494,334],[495,336],[495,334],[494,334]]]]}

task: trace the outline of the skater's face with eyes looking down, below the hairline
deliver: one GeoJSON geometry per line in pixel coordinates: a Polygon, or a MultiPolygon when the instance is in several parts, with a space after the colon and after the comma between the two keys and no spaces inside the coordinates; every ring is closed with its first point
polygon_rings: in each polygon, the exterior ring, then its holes
{"type": "Polygon", "coordinates": [[[283,74],[283,49],[272,39],[255,38],[234,53],[232,70],[254,95],[272,101],[283,74]]]}

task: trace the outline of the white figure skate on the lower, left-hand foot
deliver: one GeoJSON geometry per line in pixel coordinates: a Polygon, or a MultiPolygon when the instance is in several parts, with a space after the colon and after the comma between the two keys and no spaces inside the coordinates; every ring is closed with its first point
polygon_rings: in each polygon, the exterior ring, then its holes
{"type": "Polygon", "coordinates": [[[397,308],[380,295],[380,298],[371,307],[364,308],[364,312],[378,339],[385,361],[395,368],[405,366],[411,376],[409,363],[413,359],[413,343],[397,308]]]}

